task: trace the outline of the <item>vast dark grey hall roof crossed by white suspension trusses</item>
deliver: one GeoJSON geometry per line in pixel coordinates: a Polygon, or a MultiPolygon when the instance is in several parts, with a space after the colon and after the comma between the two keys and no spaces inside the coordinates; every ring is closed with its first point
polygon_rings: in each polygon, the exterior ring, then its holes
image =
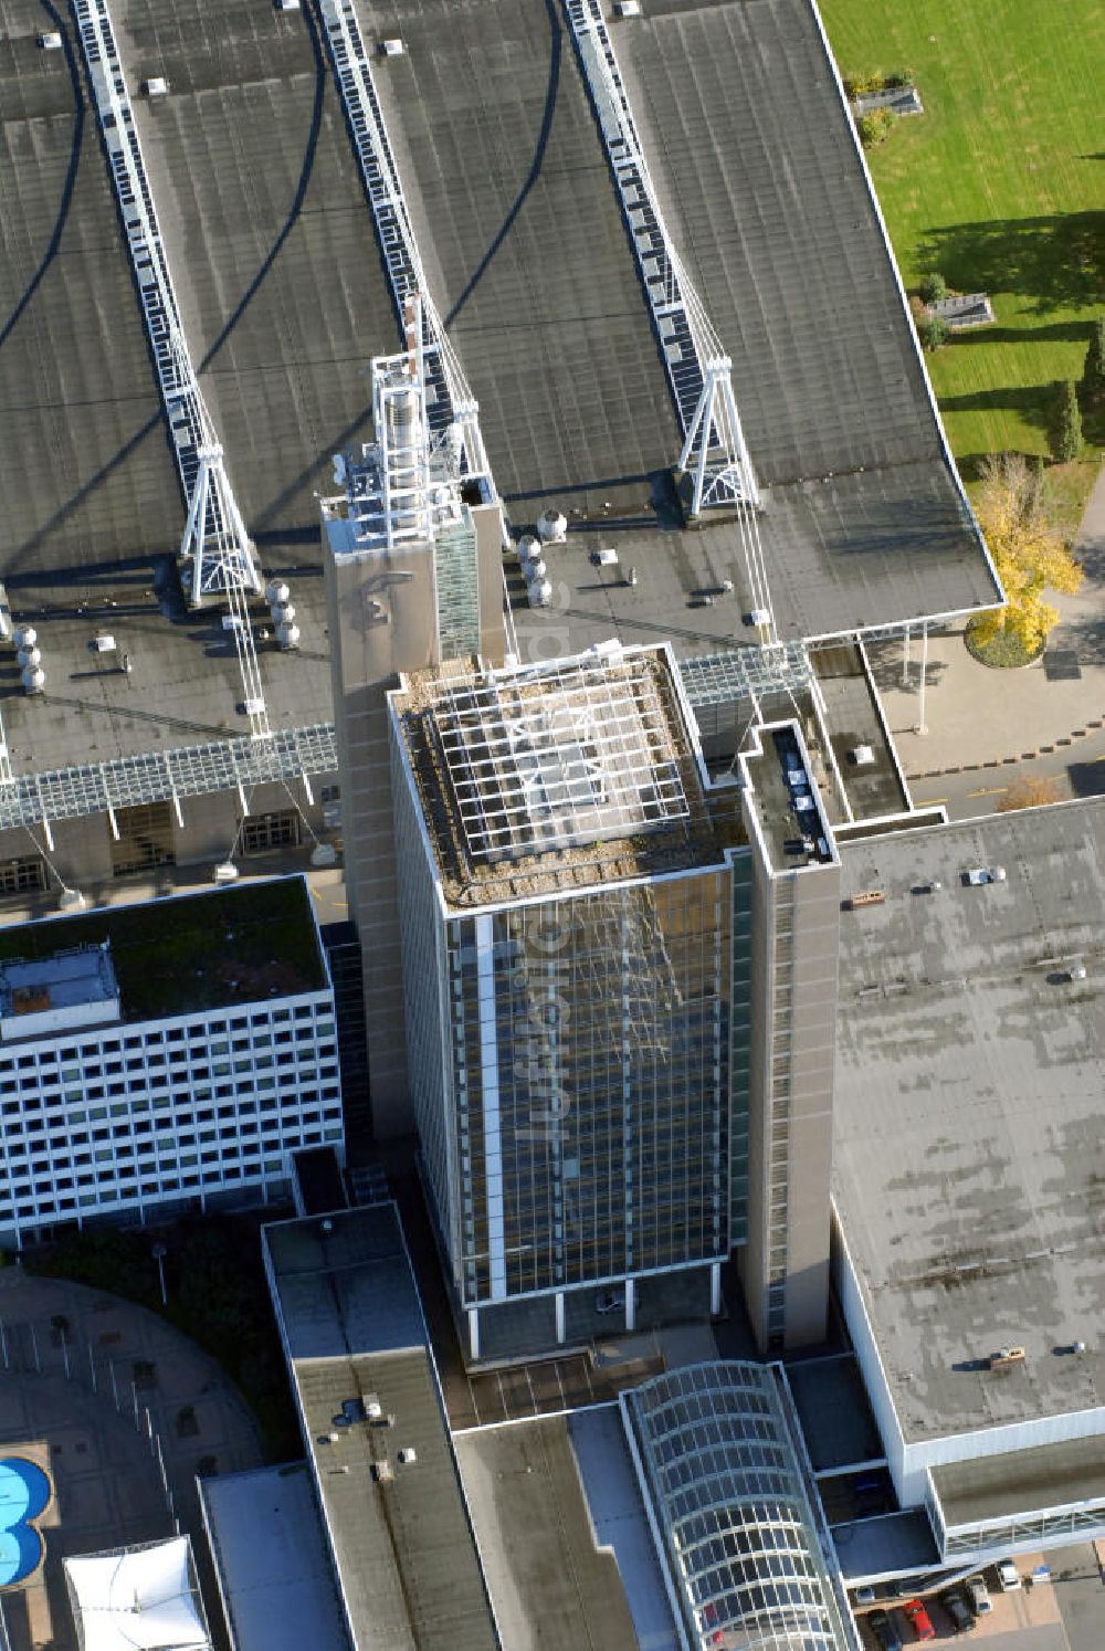
{"type": "MultiPolygon", "coordinates": [[[[578,530],[550,555],[553,608],[519,606],[525,657],[553,631],[562,652],[611,631],[671,636],[681,654],[748,641],[735,527],[677,527],[679,428],[560,12],[363,0],[358,15],[370,40],[406,43],[373,73],[510,513],[524,527],[555,499],[578,530]],[[608,543],[634,588],[596,575],[608,543]],[[705,606],[723,580],[732,598],[705,606]]],[[[0,682],[17,768],[152,748],[159,720],[238,731],[226,639],[193,627],[185,646],[172,576],[152,566],[178,543],[183,502],[81,54],[68,18],[68,50],[38,50],[31,0],[8,0],[5,25],[0,578],[17,619],[134,606],[140,646],[165,657],[142,684],[92,682],[79,627],[45,631],[53,708],[31,713],[12,674],[0,682]],[[139,688],[152,720],[134,715],[139,688]]],[[[325,720],[312,492],[330,485],[329,454],[368,434],[368,362],[398,342],[330,64],[309,7],[129,0],[116,25],[228,472],[266,573],[291,575],[301,608],[301,660],[273,664],[271,717],[325,720]],[[165,97],[139,96],[149,76],[165,97]]],[[[611,26],[672,233],[733,357],[780,632],[984,604],[808,0],[659,0],[611,26]]]]}

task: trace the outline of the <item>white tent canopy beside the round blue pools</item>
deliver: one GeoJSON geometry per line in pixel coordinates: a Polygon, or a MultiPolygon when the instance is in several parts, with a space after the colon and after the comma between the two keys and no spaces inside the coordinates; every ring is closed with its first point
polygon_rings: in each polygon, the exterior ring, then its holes
{"type": "Polygon", "coordinates": [[[64,1568],[81,1651],[211,1651],[187,1537],[64,1568]]]}

